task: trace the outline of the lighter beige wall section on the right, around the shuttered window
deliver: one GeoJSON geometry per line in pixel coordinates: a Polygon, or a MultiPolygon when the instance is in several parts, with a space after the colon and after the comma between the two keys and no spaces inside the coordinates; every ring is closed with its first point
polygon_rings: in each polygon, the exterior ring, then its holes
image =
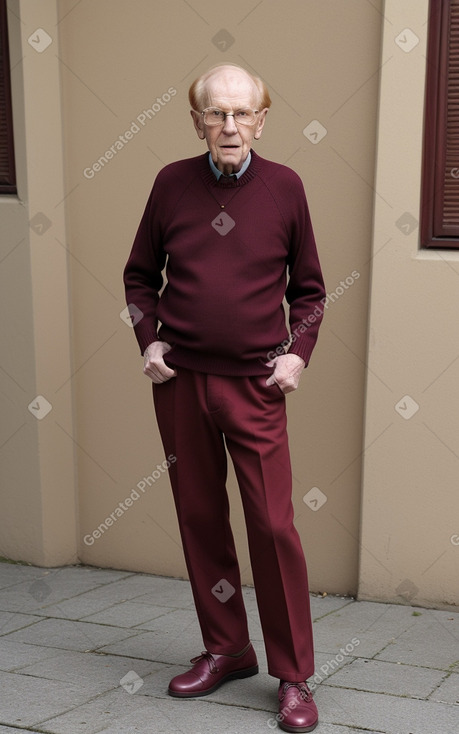
{"type": "Polygon", "coordinates": [[[421,605],[459,602],[459,255],[400,229],[419,220],[427,9],[385,7],[360,580],[361,598],[421,605]]]}

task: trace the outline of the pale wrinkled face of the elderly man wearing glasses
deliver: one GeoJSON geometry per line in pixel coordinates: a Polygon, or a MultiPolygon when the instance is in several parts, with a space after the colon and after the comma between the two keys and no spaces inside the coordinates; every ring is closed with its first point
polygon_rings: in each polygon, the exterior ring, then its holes
{"type": "MultiPolygon", "coordinates": [[[[252,80],[237,69],[222,69],[207,82],[206,107],[218,107],[224,112],[250,108],[259,109],[258,90],[252,80]]],[[[194,126],[201,140],[206,140],[212,160],[226,175],[237,173],[244,164],[253,140],[261,136],[267,109],[261,110],[253,125],[237,125],[234,117],[225,118],[223,125],[204,124],[202,110],[191,110],[194,126]]]]}

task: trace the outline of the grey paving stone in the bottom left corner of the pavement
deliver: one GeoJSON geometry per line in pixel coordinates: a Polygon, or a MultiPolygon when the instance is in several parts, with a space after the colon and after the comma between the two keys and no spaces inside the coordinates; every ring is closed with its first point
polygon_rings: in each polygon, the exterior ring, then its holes
{"type": "Polygon", "coordinates": [[[73,709],[91,698],[71,683],[20,673],[0,672],[0,690],[1,723],[19,727],[38,726],[43,719],[73,709]]]}

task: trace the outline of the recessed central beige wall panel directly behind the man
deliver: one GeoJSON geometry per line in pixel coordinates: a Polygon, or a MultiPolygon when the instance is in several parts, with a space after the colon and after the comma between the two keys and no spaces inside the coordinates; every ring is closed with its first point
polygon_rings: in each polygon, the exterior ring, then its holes
{"type": "MultiPolygon", "coordinates": [[[[373,177],[380,19],[367,3],[346,11],[340,2],[332,5],[324,13],[319,1],[265,3],[248,15],[242,0],[231,7],[196,2],[195,10],[177,0],[137,2],[137,12],[126,15],[125,3],[113,0],[74,10],[73,3],[60,4],[66,190],[72,192],[67,236],[77,258],[71,259],[78,368],[72,385],[81,447],[80,540],[163,460],[150,385],[133,333],[119,318],[121,272],[157,171],[204,150],[189,118],[191,81],[211,64],[231,60],[260,72],[272,91],[257,150],[303,177],[329,290],[353,270],[360,273],[330,307],[301,391],[289,397],[297,526],[312,586],[356,591],[372,206],[365,181],[373,177]],[[212,42],[222,28],[235,39],[227,52],[212,42]],[[167,105],[92,179],[85,177],[84,169],[170,87],[177,93],[167,105]],[[314,119],[328,130],[317,145],[303,134],[314,119]],[[317,512],[303,502],[315,486],[328,498],[317,512]]],[[[234,480],[230,491],[243,576],[250,580],[234,480]]],[[[185,574],[167,478],[161,475],[92,545],[80,542],[80,557],[185,574]]]]}

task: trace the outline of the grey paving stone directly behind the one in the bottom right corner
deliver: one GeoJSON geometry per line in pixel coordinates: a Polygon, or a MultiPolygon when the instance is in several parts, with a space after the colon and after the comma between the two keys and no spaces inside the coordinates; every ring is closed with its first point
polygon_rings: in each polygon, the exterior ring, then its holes
{"type": "Polygon", "coordinates": [[[440,670],[360,659],[332,674],[327,684],[394,696],[427,698],[440,685],[444,676],[445,673],[440,670]]]}

